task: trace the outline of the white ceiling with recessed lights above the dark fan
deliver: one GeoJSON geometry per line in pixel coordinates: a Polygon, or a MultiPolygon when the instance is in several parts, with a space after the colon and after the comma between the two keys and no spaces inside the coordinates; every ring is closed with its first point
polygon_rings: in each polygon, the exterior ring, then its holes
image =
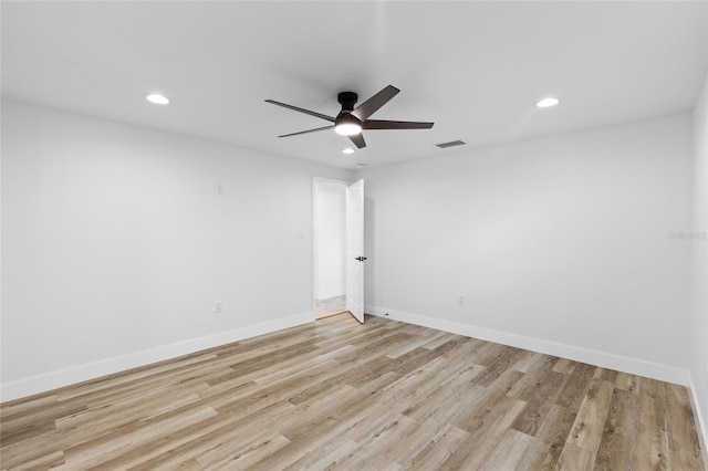
{"type": "Polygon", "coordinates": [[[683,113],[706,76],[707,2],[7,2],[3,96],[340,167],[683,113]],[[341,154],[327,123],[400,93],[373,118],[434,121],[369,130],[341,154]],[[168,95],[159,107],[148,92],[168,95]],[[561,105],[539,109],[545,95],[561,105]]]}

